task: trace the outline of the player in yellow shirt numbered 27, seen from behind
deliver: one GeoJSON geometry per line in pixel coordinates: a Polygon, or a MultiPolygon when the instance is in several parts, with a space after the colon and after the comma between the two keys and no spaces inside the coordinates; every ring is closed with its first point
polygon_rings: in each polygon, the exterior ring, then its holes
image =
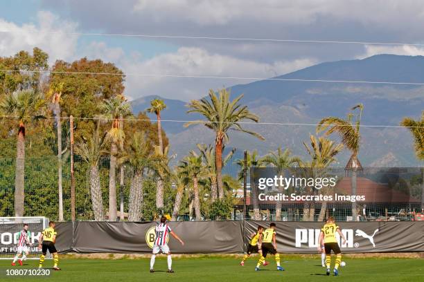
{"type": "Polygon", "coordinates": [[[335,224],[333,216],[330,216],[324,224],[324,227],[321,228],[319,233],[319,242],[318,242],[318,252],[322,252],[321,245],[324,242],[324,250],[326,252],[326,267],[327,275],[330,275],[330,265],[331,265],[331,251],[336,255],[335,266],[334,266],[334,275],[339,275],[339,265],[342,261],[342,251],[340,251],[339,244],[337,243],[336,233],[343,239],[343,244],[346,244],[346,238],[342,234],[340,227],[335,224]]]}

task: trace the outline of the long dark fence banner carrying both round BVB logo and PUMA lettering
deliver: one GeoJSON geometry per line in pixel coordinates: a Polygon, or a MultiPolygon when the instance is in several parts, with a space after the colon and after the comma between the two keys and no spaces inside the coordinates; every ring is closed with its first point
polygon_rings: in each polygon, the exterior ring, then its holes
{"type": "MultiPolygon", "coordinates": [[[[245,239],[258,225],[269,227],[271,221],[191,221],[169,223],[185,245],[170,236],[173,253],[241,253],[245,239]]],[[[150,253],[157,223],[58,223],[57,248],[60,252],[80,253],[150,253]],[[74,231],[72,232],[72,227],[74,231]],[[74,234],[73,238],[70,236],[74,234]]],[[[276,222],[276,241],[282,253],[315,253],[322,223],[276,222]]],[[[337,223],[346,237],[339,245],[344,253],[424,252],[424,222],[337,223]]]]}

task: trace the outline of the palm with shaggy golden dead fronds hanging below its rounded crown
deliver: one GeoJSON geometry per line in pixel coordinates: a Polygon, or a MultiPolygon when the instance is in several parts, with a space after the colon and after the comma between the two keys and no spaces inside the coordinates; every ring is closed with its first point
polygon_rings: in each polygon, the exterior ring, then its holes
{"type": "Polygon", "coordinates": [[[116,158],[118,145],[122,147],[125,138],[121,120],[131,115],[131,107],[123,95],[118,95],[105,100],[100,111],[103,113],[101,118],[112,120],[112,126],[107,131],[107,138],[110,140],[109,220],[116,221],[116,158]]]}

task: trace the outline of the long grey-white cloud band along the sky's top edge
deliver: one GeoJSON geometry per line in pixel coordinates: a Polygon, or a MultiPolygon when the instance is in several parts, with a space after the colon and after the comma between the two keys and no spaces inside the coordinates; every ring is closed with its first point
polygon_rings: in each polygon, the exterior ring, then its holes
{"type": "Polygon", "coordinates": [[[405,4],[398,0],[138,0],[134,11],[161,21],[191,21],[204,26],[231,21],[260,21],[308,25],[319,17],[373,23],[378,26],[403,26],[407,21],[424,21],[420,0],[405,4]]]}

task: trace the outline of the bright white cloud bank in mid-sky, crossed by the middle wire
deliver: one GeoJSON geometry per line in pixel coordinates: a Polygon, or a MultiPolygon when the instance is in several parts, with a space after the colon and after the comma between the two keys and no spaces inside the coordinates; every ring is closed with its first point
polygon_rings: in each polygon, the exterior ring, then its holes
{"type": "MultiPolygon", "coordinates": [[[[211,54],[202,48],[179,48],[175,53],[166,53],[145,61],[134,62],[123,58],[119,62],[125,73],[148,75],[186,75],[215,77],[273,77],[296,71],[314,64],[312,59],[292,62],[260,62],[238,59],[227,55],[211,54]]],[[[252,79],[251,81],[256,80],[252,79]]],[[[127,95],[141,97],[161,95],[163,97],[190,100],[206,95],[209,88],[247,83],[245,79],[210,79],[186,77],[138,77],[127,76],[127,95]]]]}

